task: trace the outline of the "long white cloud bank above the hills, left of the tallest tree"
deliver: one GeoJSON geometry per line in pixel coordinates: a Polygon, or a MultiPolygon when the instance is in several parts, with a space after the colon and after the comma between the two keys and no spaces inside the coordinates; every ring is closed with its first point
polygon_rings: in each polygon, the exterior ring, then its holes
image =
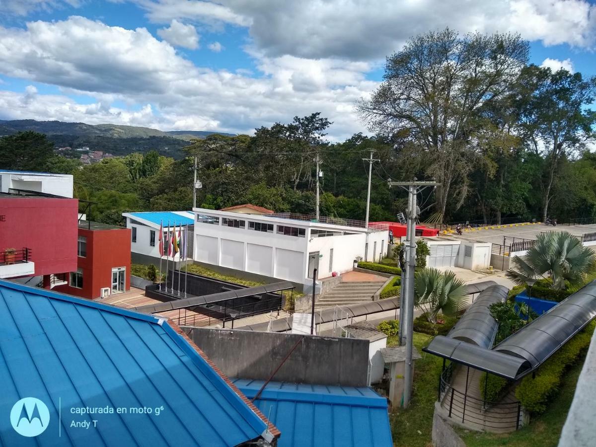
{"type": "Polygon", "coordinates": [[[37,21],[24,30],[0,27],[0,73],[95,98],[79,104],[66,95],[4,91],[0,113],[3,119],[250,133],[320,111],[334,122],[333,139],[365,131],[353,104],[378,85],[365,79],[370,64],[256,51],[252,56],[257,77],[197,67],[144,28],[126,30],[82,17],[37,21]],[[116,101],[131,104],[130,110],[113,107],[116,101]],[[144,107],[137,110],[138,104],[144,107]]]}

